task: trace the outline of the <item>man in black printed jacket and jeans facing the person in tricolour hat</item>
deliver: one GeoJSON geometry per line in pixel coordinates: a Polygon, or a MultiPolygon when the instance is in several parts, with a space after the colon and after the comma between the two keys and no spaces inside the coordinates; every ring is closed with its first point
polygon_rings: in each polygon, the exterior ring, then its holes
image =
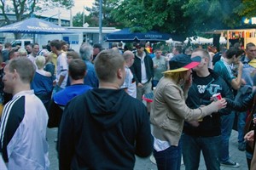
{"type": "MultiPolygon", "coordinates": [[[[201,64],[193,69],[193,82],[189,88],[187,105],[191,109],[209,105],[213,94],[233,99],[226,82],[217,73],[208,69],[210,55],[204,49],[195,49],[191,58],[201,57],[201,64]]],[[[212,113],[197,122],[186,122],[183,127],[183,161],[186,170],[198,169],[201,151],[206,161],[206,169],[220,169],[219,154],[221,144],[221,114],[212,113]]]]}

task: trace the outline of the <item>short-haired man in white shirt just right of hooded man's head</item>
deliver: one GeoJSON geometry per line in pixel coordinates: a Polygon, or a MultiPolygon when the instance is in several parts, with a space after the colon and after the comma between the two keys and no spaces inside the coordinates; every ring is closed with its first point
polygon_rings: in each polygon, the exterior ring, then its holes
{"type": "Polygon", "coordinates": [[[134,62],[134,54],[127,50],[123,54],[123,57],[125,59],[125,82],[120,88],[125,88],[125,91],[131,95],[133,98],[137,98],[137,89],[136,89],[136,81],[133,78],[133,74],[131,73],[131,70],[129,67],[133,65],[134,62]]]}

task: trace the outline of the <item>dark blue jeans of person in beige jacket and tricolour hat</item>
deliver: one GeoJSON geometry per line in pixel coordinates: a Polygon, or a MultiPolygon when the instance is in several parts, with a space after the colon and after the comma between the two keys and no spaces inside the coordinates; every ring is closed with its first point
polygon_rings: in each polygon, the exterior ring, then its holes
{"type": "Polygon", "coordinates": [[[158,170],[180,170],[181,164],[181,142],[178,146],[170,146],[166,150],[154,150],[154,159],[158,170]]]}

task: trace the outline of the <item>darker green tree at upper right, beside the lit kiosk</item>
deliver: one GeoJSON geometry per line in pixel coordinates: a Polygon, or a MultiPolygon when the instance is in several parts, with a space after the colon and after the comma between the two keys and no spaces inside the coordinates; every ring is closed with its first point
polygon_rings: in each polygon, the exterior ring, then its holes
{"type": "MultiPolygon", "coordinates": [[[[241,17],[235,10],[240,5],[241,0],[189,0],[182,8],[184,16],[193,20],[190,28],[196,32],[206,32],[240,26],[241,17]]],[[[213,45],[217,48],[219,37],[220,35],[213,35],[213,45]]]]}

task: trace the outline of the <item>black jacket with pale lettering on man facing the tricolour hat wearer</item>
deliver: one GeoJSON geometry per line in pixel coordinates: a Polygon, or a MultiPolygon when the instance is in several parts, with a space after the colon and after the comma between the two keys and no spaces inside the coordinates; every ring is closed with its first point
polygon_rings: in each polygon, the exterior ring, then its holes
{"type": "MultiPolygon", "coordinates": [[[[209,105],[212,103],[211,97],[212,94],[220,93],[223,98],[233,99],[233,93],[230,91],[227,83],[224,82],[222,77],[219,77],[217,73],[212,70],[209,70],[212,75],[212,82],[207,85],[205,92],[200,94],[198,92],[198,85],[201,85],[201,82],[195,82],[193,80],[191,88],[189,88],[188,99],[186,104],[192,108],[198,108],[201,105],[209,105]]],[[[193,77],[195,77],[195,72],[193,72],[193,77]]],[[[198,137],[212,137],[218,136],[221,134],[221,123],[220,116],[221,114],[229,114],[230,111],[222,110],[222,113],[212,113],[211,116],[205,116],[200,122],[199,127],[192,127],[188,122],[184,123],[183,132],[198,137]]]]}

